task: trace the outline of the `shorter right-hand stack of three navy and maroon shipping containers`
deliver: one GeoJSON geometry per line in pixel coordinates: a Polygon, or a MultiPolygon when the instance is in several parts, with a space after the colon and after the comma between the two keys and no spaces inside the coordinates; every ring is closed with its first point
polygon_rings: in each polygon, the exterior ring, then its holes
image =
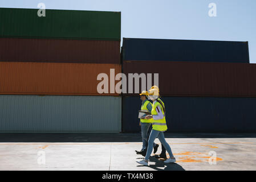
{"type": "MultiPolygon", "coordinates": [[[[247,45],[124,39],[123,73],[159,73],[168,132],[255,132],[256,65],[249,64],[247,45]]],[[[138,93],[124,94],[124,132],[140,131],[140,105],[138,93]]]]}

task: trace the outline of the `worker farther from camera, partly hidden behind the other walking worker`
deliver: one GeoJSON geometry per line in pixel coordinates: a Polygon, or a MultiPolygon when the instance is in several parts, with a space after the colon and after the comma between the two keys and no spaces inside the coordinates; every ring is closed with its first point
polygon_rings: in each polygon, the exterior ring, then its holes
{"type": "MultiPolygon", "coordinates": [[[[148,91],[143,91],[140,93],[140,100],[142,101],[141,110],[149,111],[152,110],[152,104],[148,100],[148,91]]],[[[141,151],[136,151],[137,154],[143,154],[147,152],[147,143],[148,143],[148,137],[149,137],[149,127],[151,126],[151,119],[145,119],[146,114],[143,115],[140,119],[140,127],[141,127],[141,137],[143,140],[143,146],[141,148],[141,151]]],[[[157,152],[157,148],[159,147],[159,144],[153,143],[155,154],[157,152]]]]}

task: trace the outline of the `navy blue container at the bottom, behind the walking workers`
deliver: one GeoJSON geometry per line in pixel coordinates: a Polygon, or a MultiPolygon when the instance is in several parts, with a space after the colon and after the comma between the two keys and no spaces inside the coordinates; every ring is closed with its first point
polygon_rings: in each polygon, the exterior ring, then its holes
{"type": "MultiPolygon", "coordinates": [[[[255,133],[256,98],[162,97],[166,132],[255,133]]],[[[123,132],[139,132],[139,97],[123,97],[123,132]]]]}

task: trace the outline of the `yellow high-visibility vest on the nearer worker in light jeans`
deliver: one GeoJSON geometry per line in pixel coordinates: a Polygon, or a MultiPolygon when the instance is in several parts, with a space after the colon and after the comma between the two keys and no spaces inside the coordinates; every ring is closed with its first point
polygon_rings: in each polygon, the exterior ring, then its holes
{"type": "MultiPolygon", "coordinates": [[[[164,102],[162,102],[162,105],[164,105],[164,102]]],[[[162,109],[162,105],[158,101],[153,103],[151,114],[152,115],[157,115],[156,107],[159,106],[161,108],[162,115],[164,115],[164,118],[162,118],[162,119],[155,120],[155,119],[152,118],[151,122],[152,122],[152,129],[153,130],[157,130],[157,131],[166,131],[167,130],[167,125],[166,125],[166,120],[165,120],[165,113],[164,113],[164,109],[162,109]]]]}

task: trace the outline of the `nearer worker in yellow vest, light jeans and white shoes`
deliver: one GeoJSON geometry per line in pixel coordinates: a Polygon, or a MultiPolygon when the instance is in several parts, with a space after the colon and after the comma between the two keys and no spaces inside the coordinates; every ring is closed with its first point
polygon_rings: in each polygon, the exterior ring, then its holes
{"type": "Polygon", "coordinates": [[[159,99],[159,88],[157,86],[152,86],[149,90],[149,99],[153,101],[153,106],[151,110],[151,115],[146,115],[145,119],[151,119],[152,131],[148,139],[148,149],[145,159],[137,161],[137,163],[148,166],[148,159],[153,150],[153,142],[158,137],[161,144],[167,150],[170,158],[166,159],[164,163],[174,163],[176,159],[172,154],[172,150],[169,144],[164,138],[164,131],[167,130],[166,120],[165,120],[165,106],[164,102],[159,99]]]}

